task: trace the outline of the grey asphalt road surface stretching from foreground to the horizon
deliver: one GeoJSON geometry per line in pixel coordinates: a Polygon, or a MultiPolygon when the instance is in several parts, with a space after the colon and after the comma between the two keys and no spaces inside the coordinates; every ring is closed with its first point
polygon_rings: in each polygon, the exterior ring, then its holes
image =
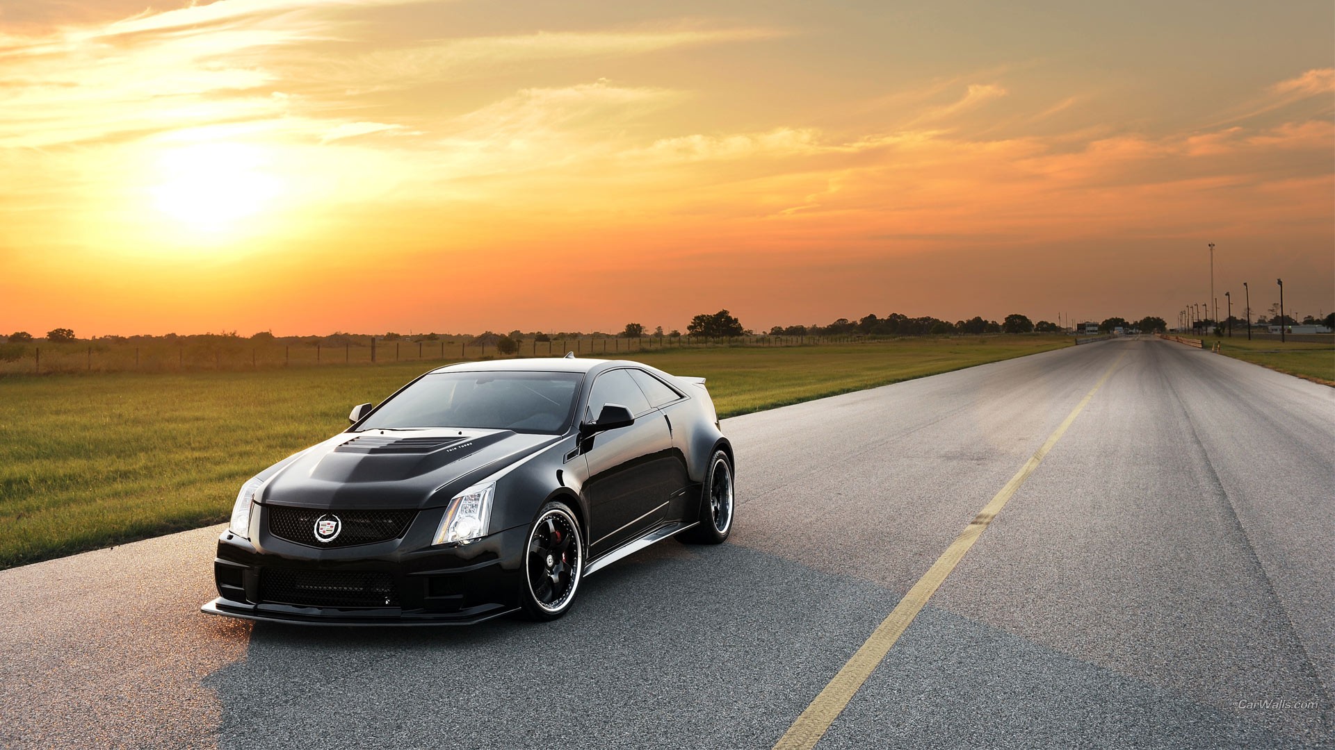
{"type": "Polygon", "coordinates": [[[730,419],[730,543],[555,623],[202,615],[220,527],[0,571],[0,745],[770,747],[1105,374],[817,747],[1335,745],[1335,390],[1148,339],[730,419]]]}

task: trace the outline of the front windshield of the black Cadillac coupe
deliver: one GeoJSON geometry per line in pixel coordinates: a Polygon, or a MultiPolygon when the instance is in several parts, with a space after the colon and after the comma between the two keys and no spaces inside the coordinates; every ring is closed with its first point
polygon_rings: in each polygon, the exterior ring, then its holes
{"type": "Polygon", "coordinates": [[[359,430],[479,427],[565,431],[578,372],[434,372],[380,404],[359,430]]]}

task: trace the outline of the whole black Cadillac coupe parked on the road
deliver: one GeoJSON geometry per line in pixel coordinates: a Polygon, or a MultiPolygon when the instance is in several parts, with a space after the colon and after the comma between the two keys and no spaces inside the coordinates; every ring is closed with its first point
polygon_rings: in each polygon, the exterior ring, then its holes
{"type": "Polygon", "coordinates": [[[477,362],[348,419],[242,486],[203,611],[553,619],[598,569],[732,530],[733,448],[701,378],[573,356],[477,362]]]}

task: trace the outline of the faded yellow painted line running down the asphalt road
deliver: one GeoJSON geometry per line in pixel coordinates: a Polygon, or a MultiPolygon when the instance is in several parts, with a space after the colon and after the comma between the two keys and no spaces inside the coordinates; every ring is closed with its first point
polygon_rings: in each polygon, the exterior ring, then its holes
{"type": "Polygon", "coordinates": [[[820,695],[812,701],[810,706],[806,706],[806,710],[802,711],[802,715],[797,717],[793,726],[788,727],[784,737],[778,738],[778,742],[774,745],[774,750],[810,750],[821,739],[821,737],[825,735],[825,730],[834,723],[834,719],[844,711],[844,707],[848,706],[853,694],[857,693],[858,687],[861,687],[862,683],[866,682],[866,678],[872,675],[872,670],[874,670],[881,661],[885,659],[885,654],[890,651],[890,647],[900,639],[900,635],[902,635],[904,630],[913,622],[913,618],[922,611],[922,607],[926,606],[926,601],[932,598],[932,594],[934,594],[937,587],[941,586],[945,577],[951,575],[951,571],[960,563],[964,554],[969,551],[969,547],[979,540],[983,530],[992,523],[992,519],[1001,512],[1001,508],[1005,507],[1007,502],[1012,495],[1015,495],[1016,490],[1019,490],[1020,486],[1024,484],[1024,480],[1033,474],[1033,470],[1043,463],[1043,458],[1048,455],[1052,446],[1057,444],[1057,440],[1060,440],[1061,435],[1064,435],[1067,428],[1071,427],[1071,423],[1076,420],[1080,411],[1083,411],[1085,404],[1093,399],[1095,392],[1097,392],[1099,388],[1108,382],[1108,378],[1112,376],[1112,371],[1117,367],[1117,363],[1121,362],[1121,356],[1124,355],[1119,355],[1117,359],[1108,366],[1108,371],[1103,374],[1103,378],[1095,383],[1093,388],[1089,388],[1085,398],[1080,399],[1080,403],[1077,403],[1061,424],[1052,431],[1052,435],[1048,435],[1043,447],[1035,451],[1029,460],[1020,467],[1020,471],[1016,471],[1015,476],[1005,483],[1005,487],[1001,487],[1001,491],[992,498],[992,502],[984,506],[983,510],[979,511],[979,515],[973,516],[973,520],[971,520],[964,531],[955,538],[955,542],[951,542],[951,546],[941,552],[941,556],[937,558],[934,563],[932,563],[932,567],[928,569],[926,574],[920,578],[912,589],[909,589],[909,593],[900,599],[900,603],[894,607],[894,611],[890,613],[890,617],[885,618],[881,625],[877,626],[866,642],[862,643],[862,647],[853,654],[853,658],[850,658],[848,663],[844,665],[844,669],[838,670],[834,679],[832,679],[829,685],[821,690],[820,695]]]}

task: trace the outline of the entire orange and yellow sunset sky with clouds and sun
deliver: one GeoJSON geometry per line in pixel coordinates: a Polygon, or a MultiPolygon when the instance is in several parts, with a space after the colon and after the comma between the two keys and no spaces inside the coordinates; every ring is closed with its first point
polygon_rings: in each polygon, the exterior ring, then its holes
{"type": "Polygon", "coordinates": [[[3,3],[0,335],[1324,314],[1332,8],[3,3]]]}

